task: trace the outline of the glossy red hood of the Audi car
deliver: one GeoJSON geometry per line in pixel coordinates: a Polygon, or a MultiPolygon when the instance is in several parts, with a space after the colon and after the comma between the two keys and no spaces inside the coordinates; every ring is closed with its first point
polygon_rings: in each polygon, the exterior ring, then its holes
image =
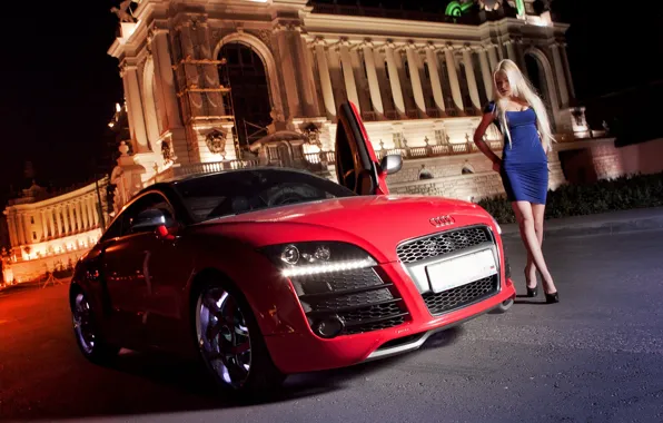
{"type": "MultiPolygon", "coordinates": [[[[435,222],[435,220],[433,220],[435,222]]],[[[379,260],[397,259],[396,245],[459,226],[488,224],[491,216],[473,203],[432,196],[357,196],[281,206],[210,220],[225,236],[256,247],[303,240],[345,240],[379,260]],[[431,220],[449,216],[435,226],[431,220]]],[[[212,229],[214,230],[214,229],[212,229]]]]}

